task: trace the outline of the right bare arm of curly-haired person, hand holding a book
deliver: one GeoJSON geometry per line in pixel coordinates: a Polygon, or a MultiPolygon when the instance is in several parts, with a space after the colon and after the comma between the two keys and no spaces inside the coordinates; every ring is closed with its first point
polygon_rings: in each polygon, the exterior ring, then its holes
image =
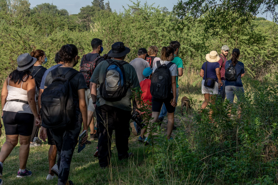
{"type": "MultiPolygon", "coordinates": [[[[87,125],[87,104],[85,100],[85,89],[79,89],[78,90],[78,98],[79,98],[79,109],[82,113],[82,119],[83,119],[83,130],[88,131],[88,125],[87,125]]],[[[86,142],[88,138],[88,132],[86,132],[85,137],[82,140],[82,145],[86,142]]]]}

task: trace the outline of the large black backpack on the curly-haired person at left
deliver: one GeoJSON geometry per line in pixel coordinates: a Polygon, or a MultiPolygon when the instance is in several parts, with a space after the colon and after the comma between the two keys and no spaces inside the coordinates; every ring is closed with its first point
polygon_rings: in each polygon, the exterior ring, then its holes
{"type": "Polygon", "coordinates": [[[52,84],[44,89],[41,95],[41,123],[44,128],[65,128],[75,119],[76,107],[73,102],[70,79],[78,71],[70,69],[65,75],[59,74],[58,68],[53,69],[52,84]]]}

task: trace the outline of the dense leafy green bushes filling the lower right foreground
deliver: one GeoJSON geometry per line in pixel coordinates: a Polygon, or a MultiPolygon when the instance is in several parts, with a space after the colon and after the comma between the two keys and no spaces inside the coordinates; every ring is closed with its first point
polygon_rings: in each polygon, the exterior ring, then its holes
{"type": "Polygon", "coordinates": [[[171,174],[187,183],[278,183],[278,75],[272,85],[250,79],[245,83],[252,88],[245,91],[242,104],[231,108],[231,117],[229,102],[217,101],[209,105],[215,122],[208,120],[207,109],[192,119],[180,118],[185,129],[174,142],[162,142],[162,134],[156,137],[153,151],[161,179],[169,180],[171,174]],[[238,106],[242,119],[236,116],[238,106]]]}

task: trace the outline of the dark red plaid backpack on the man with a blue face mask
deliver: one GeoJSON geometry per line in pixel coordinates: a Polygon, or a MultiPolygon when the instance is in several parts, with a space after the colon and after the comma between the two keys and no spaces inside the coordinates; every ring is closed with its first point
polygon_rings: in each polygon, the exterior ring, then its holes
{"type": "Polygon", "coordinates": [[[88,88],[90,87],[90,78],[94,72],[96,63],[101,58],[104,58],[104,57],[98,56],[94,61],[88,61],[88,60],[86,60],[86,55],[83,56],[83,63],[80,66],[80,72],[83,74],[88,88]]]}

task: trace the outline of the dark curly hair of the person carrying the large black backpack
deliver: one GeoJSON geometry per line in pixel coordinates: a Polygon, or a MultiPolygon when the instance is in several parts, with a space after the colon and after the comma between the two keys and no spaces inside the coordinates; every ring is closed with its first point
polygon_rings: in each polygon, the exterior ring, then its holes
{"type": "Polygon", "coordinates": [[[59,55],[62,61],[71,63],[73,58],[78,55],[78,49],[74,44],[67,44],[61,47],[59,55]]]}

